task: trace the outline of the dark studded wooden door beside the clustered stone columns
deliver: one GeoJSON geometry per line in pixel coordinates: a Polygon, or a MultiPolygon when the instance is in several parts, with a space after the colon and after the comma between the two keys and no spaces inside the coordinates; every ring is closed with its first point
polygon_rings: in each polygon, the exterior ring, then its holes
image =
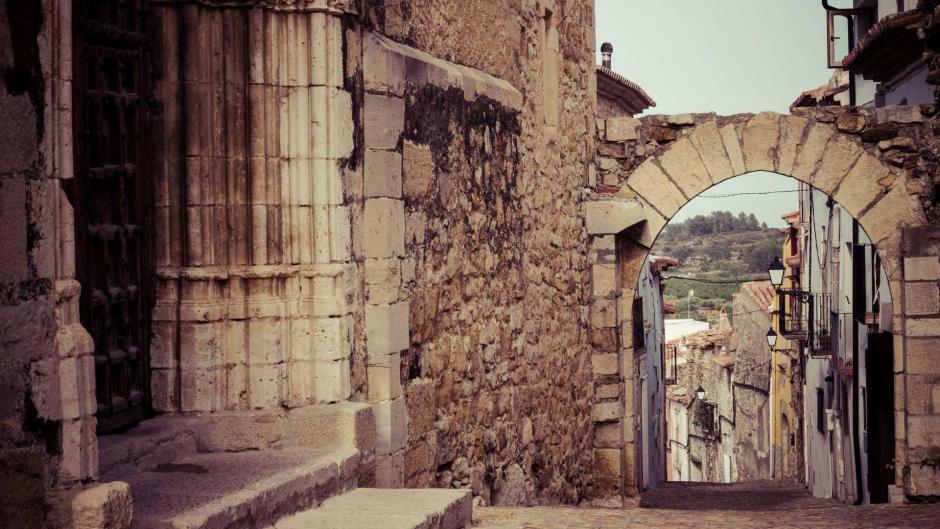
{"type": "Polygon", "coordinates": [[[146,0],[74,0],[76,276],[95,341],[98,432],[147,415],[146,0]]]}

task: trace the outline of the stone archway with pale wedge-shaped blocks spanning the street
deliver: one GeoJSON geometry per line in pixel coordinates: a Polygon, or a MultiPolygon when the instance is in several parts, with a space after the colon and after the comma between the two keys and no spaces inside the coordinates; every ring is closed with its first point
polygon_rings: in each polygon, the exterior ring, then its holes
{"type": "MultiPolygon", "coordinates": [[[[817,108],[798,115],[763,112],[720,117],[682,114],[598,120],[595,193],[585,204],[591,244],[595,468],[601,493],[636,493],[630,428],[632,344],[629,311],[640,265],[660,230],[688,201],[728,178],[753,171],[791,176],[834,198],[866,231],[887,272],[894,319],[896,483],[907,494],[937,494],[920,461],[938,450],[940,409],[908,409],[912,391],[937,392],[940,367],[925,358],[940,334],[936,299],[940,262],[927,243],[935,233],[929,141],[932,109],[817,108]],[[911,283],[911,282],[917,282],[911,283]],[[910,284],[908,284],[910,283],[910,284]],[[934,294],[907,296],[924,287],[934,294]],[[913,355],[916,355],[914,357],[913,355]],[[616,380],[619,394],[611,391],[616,380]],[[612,397],[611,395],[617,395],[612,397]],[[606,399],[604,397],[607,397],[606,399]],[[611,425],[614,425],[611,428],[611,425]],[[909,469],[905,473],[903,469],[909,469]]],[[[940,406],[940,403],[938,403],[940,406]]],[[[927,471],[930,472],[929,469],[927,471]]]]}

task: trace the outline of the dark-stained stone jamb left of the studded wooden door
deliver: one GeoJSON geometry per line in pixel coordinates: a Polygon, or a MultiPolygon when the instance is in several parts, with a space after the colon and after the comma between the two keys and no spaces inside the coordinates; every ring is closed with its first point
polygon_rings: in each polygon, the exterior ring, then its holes
{"type": "MultiPolygon", "coordinates": [[[[71,10],[0,6],[0,526],[41,527],[94,479],[94,360],[78,319],[71,10]]],[[[126,497],[126,495],[125,495],[126,497]]]]}

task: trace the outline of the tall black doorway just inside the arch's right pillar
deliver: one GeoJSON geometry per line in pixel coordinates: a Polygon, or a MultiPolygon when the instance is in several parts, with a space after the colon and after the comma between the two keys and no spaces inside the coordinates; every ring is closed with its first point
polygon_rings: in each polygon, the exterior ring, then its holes
{"type": "Polygon", "coordinates": [[[894,340],[891,333],[868,335],[865,351],[868,493],[887,503],[894,483],[894,340]]]}

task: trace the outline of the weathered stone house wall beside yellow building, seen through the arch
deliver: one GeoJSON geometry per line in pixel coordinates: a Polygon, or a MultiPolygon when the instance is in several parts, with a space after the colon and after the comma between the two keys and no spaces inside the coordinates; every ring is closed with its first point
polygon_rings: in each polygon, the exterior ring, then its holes
{"type": "Polygon", "coordinates": [[[770,350],[767,329],[770,314],[750,295],[734,297],[734,334],[738,338],[734,357],[735,460],[738,479],[770,478],[768,391],[770,350]]]}

